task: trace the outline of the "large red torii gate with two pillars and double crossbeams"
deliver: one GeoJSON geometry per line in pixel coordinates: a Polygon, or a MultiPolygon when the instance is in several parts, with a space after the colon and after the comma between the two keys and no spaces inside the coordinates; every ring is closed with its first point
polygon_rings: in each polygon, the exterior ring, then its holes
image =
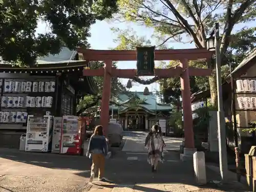
{"type": "MultiPolygon", "coordinates": [[[[92,50],[81,49],[77,51],[83,54],[84,60],[104,61],[104,68],[84,69],[83,76],[103,76],[103,91],[101,99],[100,123],[106,129],[109,123],[109,101],[111,93],[111,77],[133,78],[135,69],[117,69],[112,67],[112,61],[136,61],[136,51],[118,50],[92,50]]],[[[182,108],[184,119],[185,148],[194,149],[194,131],[191,111],[189,76],[210,76],[211,69],[198,69],[188,67],[188,60],[210,59],[212,53],[207,49],[177,49],[155,50],[155,60],[180,60],[180,66],[170,69],[155,69],[159,78],[179,76],[181,81],[182,108]]]]}

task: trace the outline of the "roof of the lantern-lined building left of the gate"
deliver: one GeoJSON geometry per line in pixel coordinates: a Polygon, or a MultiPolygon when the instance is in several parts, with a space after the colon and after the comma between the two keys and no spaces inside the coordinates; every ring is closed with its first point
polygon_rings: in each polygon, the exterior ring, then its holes
{"type": "MultiPolygon", "coordinates": [[[[87,61],[78,60],[77,51],[71,51],[66,47],[61,48],[59,54],[38,57],[36,65],[32,67],[19,67],[0,61],[0,72],[2,73],[29,73],[31,75],[56,76],[56,73],[68,74],[73,84],[83,93],[97,95],[98,87],[93,77],[84,76],[83,68],[87,66],[87,61]],[[76,60],[74,60],[76,59],[76,60]],[[75,75],[71,75],[75,73],[75,75]],[[82,81],[79,78],[83,77],[82,81]]],[[[0,59],[1,60],[1,59],[0,59]]]]}

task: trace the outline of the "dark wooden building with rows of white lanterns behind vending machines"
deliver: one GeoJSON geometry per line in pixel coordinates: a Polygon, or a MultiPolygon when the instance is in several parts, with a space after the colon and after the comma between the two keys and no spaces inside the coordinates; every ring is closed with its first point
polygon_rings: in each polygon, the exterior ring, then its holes
{"type": "Polygon", "coordinates": [[[93,77],[83,76],[84,67],[86,62],[79,60],[78,53],[67,48],[38,58],[33,67],[0,64],[0,115],[9,114],[8,120],[0,118],[0,147],[18,147],[28,115],[76,115],[78,100],[98,92],[93,77]]]}

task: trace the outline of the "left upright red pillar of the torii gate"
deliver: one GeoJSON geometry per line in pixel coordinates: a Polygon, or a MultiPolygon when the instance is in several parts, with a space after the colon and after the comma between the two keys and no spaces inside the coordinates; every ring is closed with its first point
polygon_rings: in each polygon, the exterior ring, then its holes
{"type": "Polygon", "coordinates": [[[106,136],[109,124],[109,103],[111,93],[111,69],[112,60],[105,60],[103,90],[101,98],[100,124],[103,126],[103,133],[106,136]]]}

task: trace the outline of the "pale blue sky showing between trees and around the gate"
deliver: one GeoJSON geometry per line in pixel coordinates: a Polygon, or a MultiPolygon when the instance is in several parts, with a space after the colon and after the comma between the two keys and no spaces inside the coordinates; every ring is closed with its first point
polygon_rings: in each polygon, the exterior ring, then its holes
{"type": "MultiPolygon", "coordinates": [[[[246,23],[248,27],[256,27],[256,23],[246,23]]],[[[234,30],[239,30],[245,25],[237,25],[234,30]]],[[[98,49],[98,50],[107,50],[110,48],[114,48],[117,46],[117,44],[113,41],[113,39],[116,38],[116,34],[114,34],[111,31],[112,27],[118,27],[120,29],[127,29],[127,28],[133,28],[134,31],[137,32],[138,36],[146,36],[148,39],[150,39],[151,35],[153,34],[153,29],[141,27],[132,23],[110,23],[106,21],[97,21],[96,24],[94,24],[91,27],[91,37],[88,39],[92,49],[98,49]]],[[[49,30],[49,28],[44,23],[39,23],[37,28],[37,33],[45,33],[49,30]]],[[[152,44],[155,44],[154,39],[152,40],[152,44]]],[[[194,44],[181,44],[181,43],[172,43],[169,44],[169,46],[174,47],[174,49],[189,49],[189,48],[195,48],[194,44]]],[[[156,66],[159,65],[159,62],[156,61],[156,66]]],[[[117,63],[117,67],[119,69],[136,69],[136,61],[119,61],[117,63]]],[[[143,77],[143,78],[152,78],[152,77],[143,77]]],[[[128,79],[121,79],[122,83],[126,85],[128,79]]],[[[159,90],[159,84],[158,83],[152,83],[148,86],[143,86],[139,83],[135,83],[133,85],[133,88],[131,88],[130,91],[143,91],[145,87],[148,87],[148,89],[159,90]]]]}

